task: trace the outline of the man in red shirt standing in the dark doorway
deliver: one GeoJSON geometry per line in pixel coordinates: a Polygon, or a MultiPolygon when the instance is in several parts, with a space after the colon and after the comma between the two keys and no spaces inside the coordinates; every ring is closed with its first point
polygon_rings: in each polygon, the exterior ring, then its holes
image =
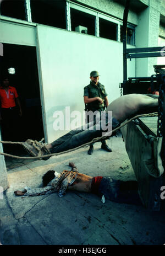
{"type": "Polygon", "coordinates": [[[0,87],[2,136],[3,140],[14,140],[17,134],[17,125],[19,115],[22,115],[21,105],[18,98],[17,90],[9,86],[8,77],[2,79],[0,87]],[[19,115],[16,103],[19,106],[19,115]]]}

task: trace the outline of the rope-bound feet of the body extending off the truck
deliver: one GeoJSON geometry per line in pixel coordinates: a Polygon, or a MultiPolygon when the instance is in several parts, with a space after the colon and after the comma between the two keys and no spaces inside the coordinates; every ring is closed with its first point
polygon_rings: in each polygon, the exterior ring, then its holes
{"type": "MultiPolygon", "coordinates": [[[[27,153],[33,157],[51,154],[51,152],[46,148],[46,144],[42,141],[27,140],[23,142],[23,147],[27,153]]],[[[47,160],[48,158],[50,157],[43,157],[43,160],[47,160]]],[[[40,159],[42,159],[42,157],[40,159]]]]}

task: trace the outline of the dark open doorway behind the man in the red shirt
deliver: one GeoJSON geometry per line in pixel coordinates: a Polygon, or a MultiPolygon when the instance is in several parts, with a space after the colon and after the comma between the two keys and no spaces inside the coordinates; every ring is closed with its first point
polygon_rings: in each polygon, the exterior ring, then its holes
{"type": "MultiPolygon", "coordinates": [[[[17,89],[23,110],[23,115],[19,118],[15,139],[17,141],[25,141],[28,138],[41,140],[44,134],[36,47],[3,44],[1,78],[4,74],[9,77],[9,85],[17,89]],[[11,67],[15,69],[15,74],[8,73],[8,68],[11,67]]],[[[3,136],[2,131],[2,139],[3,136]]]]}

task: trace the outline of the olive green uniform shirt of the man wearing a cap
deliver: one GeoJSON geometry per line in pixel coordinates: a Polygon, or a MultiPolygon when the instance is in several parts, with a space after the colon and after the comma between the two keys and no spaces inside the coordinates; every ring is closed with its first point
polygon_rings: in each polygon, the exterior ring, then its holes
{"type": "Polygon", "coordinates": [[[105,86],[101,84],[100,82],[97,83],[97,86],[94,82],[90,82],[88,86],[84,87],[84,96],[87,96],[88,98],[95,98],[100,97],[103,99],[103,103],[101,104],[98,100],[95,100],[94,102],[88,103],[87,110],[96,111],[96,110],[105,110],[105,97],[108,94],[106,93],[105,86]]]}

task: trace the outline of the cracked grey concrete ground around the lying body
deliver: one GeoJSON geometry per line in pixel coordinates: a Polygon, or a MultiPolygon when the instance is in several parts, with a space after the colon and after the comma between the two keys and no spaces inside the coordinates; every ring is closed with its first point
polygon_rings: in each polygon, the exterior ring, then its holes
{"type": "Polygon", "coordinates": [[[107,141],[113,152],[95,143],[94,154],[87,147],[54,156],[47,161],[26,162],[8,170],[9,189],[0,200],[0,241],[2,244],[119,245],[164,244],[164,212],[151,212],[142,206],[117,204],[92,194],[68,191],[34,197],[17,197],[14,190],[41,186],[49,169],[61,172],[74,162],[79,172],[121,180],[135,180],[122,138],[107,141]]]}

